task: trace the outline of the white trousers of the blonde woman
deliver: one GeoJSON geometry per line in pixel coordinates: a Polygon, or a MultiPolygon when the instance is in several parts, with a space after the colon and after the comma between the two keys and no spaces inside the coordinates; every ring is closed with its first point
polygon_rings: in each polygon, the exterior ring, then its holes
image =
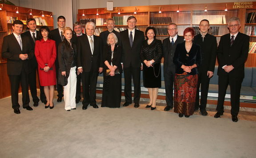
{"type": "Polygon", "coordinates": [[[71,67],[68,84],[64,86],[65,110],[76,108],[76,67],[71,67]]]}

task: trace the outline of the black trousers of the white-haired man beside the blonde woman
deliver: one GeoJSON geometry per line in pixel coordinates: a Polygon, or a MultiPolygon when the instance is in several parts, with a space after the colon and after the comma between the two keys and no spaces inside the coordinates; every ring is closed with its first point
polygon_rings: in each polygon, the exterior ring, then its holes
{"type": "Polygon", "coordinates": [[[99,75],[98,71],[83,72],[83,106],[96,104],[96,84],[99,75]]]}

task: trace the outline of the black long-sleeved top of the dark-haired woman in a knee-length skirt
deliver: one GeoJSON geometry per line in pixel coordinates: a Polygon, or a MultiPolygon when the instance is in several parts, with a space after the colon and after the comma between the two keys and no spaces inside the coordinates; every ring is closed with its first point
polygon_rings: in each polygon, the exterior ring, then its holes
{"type": "Polygon", "coordinates": [[[161,40],[154,39],[148,45],[148,40],[144,40],[140,49],[140,59],[143,63],[144,60],[154,60],[156,63],[161,63],[163,55],[161,40]]]}

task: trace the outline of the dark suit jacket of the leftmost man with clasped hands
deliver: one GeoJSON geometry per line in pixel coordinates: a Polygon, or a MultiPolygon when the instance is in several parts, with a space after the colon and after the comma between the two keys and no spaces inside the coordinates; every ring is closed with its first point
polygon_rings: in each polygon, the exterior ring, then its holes
{"type": "Polygon", "coordinates": [[[22,67],[25,72],[30,73],[31,69],[28,66],[28,59],[34,57],[34,49],[27,37],[22,37],[22,51],[20,44],[16,40],[13,33],[5,36],[2,45],[2,57],[7,58],[7,74],[8,75],[20,75],[22,67]],[[20,54],[28,54],[28,59],[21,60],[20,54]]]}

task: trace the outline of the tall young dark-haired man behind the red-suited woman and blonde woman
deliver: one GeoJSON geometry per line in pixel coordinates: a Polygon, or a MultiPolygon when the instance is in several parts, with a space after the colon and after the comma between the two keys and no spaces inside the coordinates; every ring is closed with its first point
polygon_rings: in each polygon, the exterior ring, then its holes
{"type": "MultiPolygon", "coordinates": [[[[56,51],[58,52],[58,46],[59,46],[59,43],[62,42],[64,40],[64,36],[62,34],[62,30],[65,28],[66,26],[66,19],[64,16],[59,16],[58,17],[58,28],[52,30],[50,32],[50,39],[52,40],[55,40],[56,42],[56,51]]],[[[56,56],[56,59],[58,59],[58,53],[57,53],[57,56],[56,56]]],[[[57,102],[61,102],[62,101],[62,97],[63,97],[63,87],[62,85],[58,84],[58,76],[59,76],[59,61],[56,60],[55,61],[55,67],[56,67],[56,78],[57,78],[57,91],[58,91],[58,99],[57,99],[57,102]]]]}

